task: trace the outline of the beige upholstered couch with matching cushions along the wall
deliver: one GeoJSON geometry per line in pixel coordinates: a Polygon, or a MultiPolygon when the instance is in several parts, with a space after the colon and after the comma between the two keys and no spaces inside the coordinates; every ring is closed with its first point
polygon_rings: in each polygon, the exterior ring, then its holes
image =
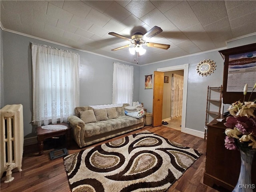
{"type": "Polygon", "coordinates": [[[68,117],[72,136],[80,148],[144,127],[144,116],[125,114],[129,104],[81,106],[68,117]]]}

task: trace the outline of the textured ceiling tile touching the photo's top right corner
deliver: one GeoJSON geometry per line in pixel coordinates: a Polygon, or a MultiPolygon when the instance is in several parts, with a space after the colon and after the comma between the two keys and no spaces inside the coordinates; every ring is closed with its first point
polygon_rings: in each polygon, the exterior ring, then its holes
{"type": "MultiPolygon", "coordinates": [[[[248,1],[240,6],[229,9],[228,18],[233,20],[250,13],[256,13],[256,1],[248,1]]],[[[252,20],[255,20],[255,17],[252,20]]]]}

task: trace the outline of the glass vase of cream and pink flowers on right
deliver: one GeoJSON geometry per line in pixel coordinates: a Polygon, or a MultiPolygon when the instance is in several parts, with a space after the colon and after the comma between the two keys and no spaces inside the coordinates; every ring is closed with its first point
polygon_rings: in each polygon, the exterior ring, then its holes
{"type": "MultiPolygon", "coordinates": [[[[252,92],[256,88],[256,83],[252,92]]],[[[233,103],[228,111],[231,116],[226,118],[225,147],[239,150],[241,167],[238,182],[233,192],[252,192],[255,184],[251,181],[252,160],[256,152],[256,99],[245,101],[248,84],[244,86],[244,101],[233,103]]]]}

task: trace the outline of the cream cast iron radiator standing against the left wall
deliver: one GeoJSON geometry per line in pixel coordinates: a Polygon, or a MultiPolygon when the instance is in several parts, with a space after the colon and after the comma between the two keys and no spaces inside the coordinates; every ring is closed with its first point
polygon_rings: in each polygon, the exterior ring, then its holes
{"type": "Polygon", "coordinates": [[[23,155],[23,106],[22,104],[6,105],[0,110],[0,164],[1,178],[6,171],[5,183],[11,182],[12,170],[22,171],[23,155]]]}

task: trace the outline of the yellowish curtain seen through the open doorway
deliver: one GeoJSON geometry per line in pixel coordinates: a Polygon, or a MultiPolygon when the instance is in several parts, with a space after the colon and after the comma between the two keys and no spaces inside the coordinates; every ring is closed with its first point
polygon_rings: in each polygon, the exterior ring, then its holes
{"type": "Polygon", "coordinates": [[[183,76],[172,74],[171,118],[182,116],[183,76]]]}

